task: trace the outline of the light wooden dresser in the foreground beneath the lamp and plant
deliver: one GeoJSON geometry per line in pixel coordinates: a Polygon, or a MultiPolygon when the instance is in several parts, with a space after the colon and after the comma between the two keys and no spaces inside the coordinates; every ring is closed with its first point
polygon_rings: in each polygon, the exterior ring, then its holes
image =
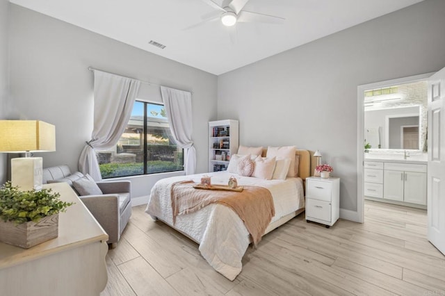
{"type": "Polygon", "coordinates": [[[30,249],[0,242],[1,295],[99,295],[108,235],[67,183],[44,185],[76,204],[59,214],[58,237],[30,249]]]}

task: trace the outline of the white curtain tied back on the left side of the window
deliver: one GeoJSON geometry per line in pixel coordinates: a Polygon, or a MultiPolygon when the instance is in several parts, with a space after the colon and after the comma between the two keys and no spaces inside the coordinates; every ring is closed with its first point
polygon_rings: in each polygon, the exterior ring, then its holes
{"type": "Polygon", "coordinates": [[[83,147],[79,170],[102,180],[95,149],[110,149],[127,127],[140,81],[95,70],[94,126],[83,147]]]}

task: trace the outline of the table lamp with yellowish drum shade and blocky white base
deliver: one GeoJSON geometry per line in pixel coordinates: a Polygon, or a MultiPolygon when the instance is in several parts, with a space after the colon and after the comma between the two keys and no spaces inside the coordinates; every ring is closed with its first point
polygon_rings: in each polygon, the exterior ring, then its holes
{"type": "Polygon", "coordinates": [[[40,120],[0,120],[0,152],[24,153],[11,159],[11,183],[20,190],[42,189],[42,158],[31,152],[56,151],[56,128],[40,120]]]}

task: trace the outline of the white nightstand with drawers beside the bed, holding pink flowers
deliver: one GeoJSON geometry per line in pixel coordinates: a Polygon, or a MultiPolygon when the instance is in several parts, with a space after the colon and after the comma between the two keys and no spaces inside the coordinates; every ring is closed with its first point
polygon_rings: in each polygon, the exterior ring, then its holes
{"type": "Polygon", "coordinates": [[[331,227],[339,219],[340,178],[306,178],[306,222],[331,227]]]}

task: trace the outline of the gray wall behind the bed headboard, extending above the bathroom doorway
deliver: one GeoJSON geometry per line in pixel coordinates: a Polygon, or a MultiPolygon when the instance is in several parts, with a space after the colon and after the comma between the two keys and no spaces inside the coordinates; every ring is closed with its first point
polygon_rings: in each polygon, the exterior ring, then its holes
{"type": "Polygon", "coordinates": [[[423,1],[220,75],[218,119],[240,121],[241,145],[319,149],[357,211],[357,85],[445,67],[444,12],[423,1]]]}

